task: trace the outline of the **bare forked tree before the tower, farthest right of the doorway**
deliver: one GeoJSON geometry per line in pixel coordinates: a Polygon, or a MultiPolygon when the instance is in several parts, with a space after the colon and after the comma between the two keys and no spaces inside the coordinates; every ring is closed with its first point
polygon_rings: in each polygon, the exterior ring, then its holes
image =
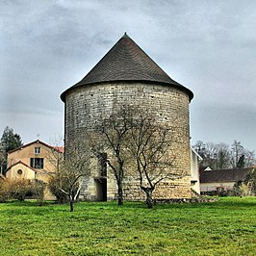
{"type": "Polygon", "coordinates": [[[133,114],[126,145],[135,160],[147,207],[152,208],[152,193],[156,186],[166,178],[177,179],[183,175],[172,170],[174,157],[170,155],[170,130],[143,111],[136,109],[133,114]]]}

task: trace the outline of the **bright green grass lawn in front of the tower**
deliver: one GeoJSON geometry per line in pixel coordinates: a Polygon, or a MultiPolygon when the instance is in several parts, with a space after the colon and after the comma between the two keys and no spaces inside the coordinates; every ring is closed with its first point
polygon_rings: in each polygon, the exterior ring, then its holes
{"type": "Polygon", "coordinates": [[[202,204],[0,204],[0,255],[256,255],[256,197],[202,204]]]}

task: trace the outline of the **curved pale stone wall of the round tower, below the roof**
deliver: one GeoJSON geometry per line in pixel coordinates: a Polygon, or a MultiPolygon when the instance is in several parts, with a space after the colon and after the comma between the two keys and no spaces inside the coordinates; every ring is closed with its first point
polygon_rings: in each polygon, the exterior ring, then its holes
{"type": "MultiPolygon", "coordinates": [[[[102,117],[112,114],[123,105],[140,106],[155,116],[159,123],[172,131],[172,150],[175,158],[173,169],[186,173],[182,179],[163,181],[154,192],[155,198],[191,197],[191,156],[189,131],[189,95],[170,86],[148,83],[104,83],[87,85],[69,90],[65,95],[65,144],[81,138],[83,131],[90,130],[102,117]]],[[[93,175],[96,175],[94,173],[93,175]]],[[[85,182],[85,198],[93,199],[95,180],[91,175],[85,182]]],[[[108,198],[115,198],[115,180],[108,169],[108,198]]],[[[124,181],[126,199],[143,198],[138,182],[124,181]]]]}

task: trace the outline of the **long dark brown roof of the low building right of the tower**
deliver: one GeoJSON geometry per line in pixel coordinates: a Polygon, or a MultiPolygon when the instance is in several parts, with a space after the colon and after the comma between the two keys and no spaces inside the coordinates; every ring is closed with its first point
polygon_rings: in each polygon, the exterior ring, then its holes
{"type": "Polygon", "coordinates": [[[200,183],[244,181],[251,168],[200,170],[200,183]]]}

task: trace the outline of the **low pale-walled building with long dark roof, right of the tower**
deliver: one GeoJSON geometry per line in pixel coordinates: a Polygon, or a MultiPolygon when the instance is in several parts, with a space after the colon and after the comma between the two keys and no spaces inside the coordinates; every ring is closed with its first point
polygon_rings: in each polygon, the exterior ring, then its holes
{"type": "Polygon", "coordinates": [[[203,169],[200,170],[201,193],[216,192],[218,187],[232,190],[236,182],[244,182],[251,168],[203,169]]]}

